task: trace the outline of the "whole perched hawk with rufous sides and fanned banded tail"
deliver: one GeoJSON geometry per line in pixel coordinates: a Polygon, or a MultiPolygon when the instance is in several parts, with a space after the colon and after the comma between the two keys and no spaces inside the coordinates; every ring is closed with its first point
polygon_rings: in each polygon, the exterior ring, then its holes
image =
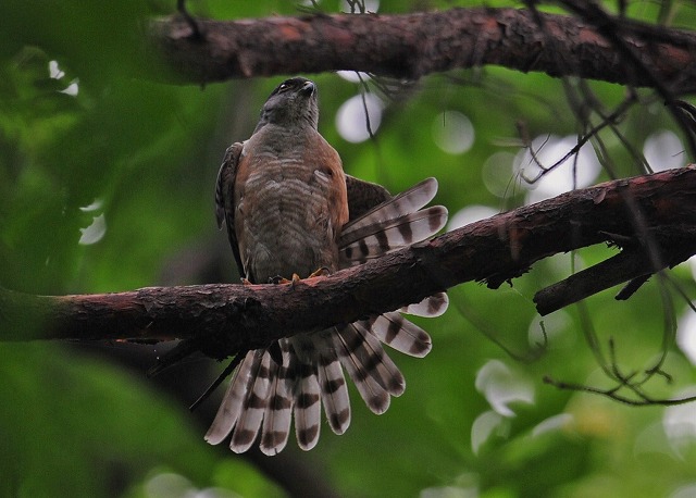
{"type": "MultiPolygon", "coordinates": [[[[437,182],[427,178],[398,196],[347,175],[340,157],[318,130],[316,85],[303,77],[270,95],[250,138],[233,144],[220,167],[215,215],[227,236],[243,282],[290,283],[364,263],[424,240],[447,221],[442,206],[423,208],[437,182]]],[[[206,434],[216,445],[277,455],[296,438],[312,449],[328,426],[343,434],[351,408],[344,371],[377,414],[403,393],[403,375],[383,344],[412,357],[432,348],[428,334],[401,312],[438,316],[448,304],[438,292],[420,303],[314,333],[282,338],[248,351],[206,434]]]]}

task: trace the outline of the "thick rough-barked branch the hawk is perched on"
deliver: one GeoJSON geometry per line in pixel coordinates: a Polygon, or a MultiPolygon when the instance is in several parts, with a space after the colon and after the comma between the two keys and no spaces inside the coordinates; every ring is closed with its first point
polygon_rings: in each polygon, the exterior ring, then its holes
{"type": "Polygon", "coordinates": [[[631,251],[659,249],[660,258],[648,251],[650,267],[656,260],[675,263],[670,248],[679,249],[678,259],[696,252],[696,166],[568,192],[294,287],[216,284],[59,297],[1,290],[0,340],[197,337],[225,356],[463,282],[496,287],[543,258],[607,240],[631,251]]]}

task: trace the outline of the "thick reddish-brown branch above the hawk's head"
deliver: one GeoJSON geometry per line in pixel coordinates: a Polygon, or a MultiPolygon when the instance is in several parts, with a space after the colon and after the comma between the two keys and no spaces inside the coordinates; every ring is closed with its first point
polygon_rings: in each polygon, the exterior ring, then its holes
{"type": "Polygon", "coordinates": [[[156,57],[181,83],[355,70],[419,78],[487,64],[634,86],[659,78],[674,94],[696,89],[696,35],[620,20],[625,46],[650,74],[626,67],[616,48],[574,17],[517,9],[452,9],[407,15],[314,15],[199,20],[202,39],[182,18],[149,26],[156,57]]]}

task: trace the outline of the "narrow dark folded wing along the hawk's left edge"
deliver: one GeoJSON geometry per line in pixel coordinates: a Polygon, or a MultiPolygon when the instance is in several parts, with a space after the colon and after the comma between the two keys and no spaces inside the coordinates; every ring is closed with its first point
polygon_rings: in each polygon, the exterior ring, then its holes
{"type": "Polygon", "coordinates": [[[243,148],[244,144],[241,142],[235,142],[227,148],[215,184],[215,217],[217,219],[217,228],[222,229],[223,222],[227,225],[227,238],[232,246],[232,252],[235,254],[235,261],[237,262],[240,276],[245,276],[246,271],[244,264],[241,264],[239,244],[235,232],[234,189],[243,148]]]}

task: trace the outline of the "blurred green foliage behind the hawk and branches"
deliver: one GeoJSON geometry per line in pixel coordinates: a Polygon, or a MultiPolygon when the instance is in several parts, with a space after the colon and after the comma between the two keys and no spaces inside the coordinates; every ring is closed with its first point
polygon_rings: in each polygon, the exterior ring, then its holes
{"type": "MultiPolygon", "coordinates": [[[[226,237],[213,219],[213,184],[225,148],[250,134],[282,77],[202,88],[153,83],[164,70],[141,62],[144,20],[172,13],[174,2],[7,3],[0,285],[62,295],[235,282],[226,237]]],[[[382,1],[378,9],[452,4],[468,3],[382,1]]],[[[670,22],[694,26],[693,7],[668,5],[670,22]]],[[[346,5],[324,1],[320,8],[346,5]]],[[[298,4],[206,0],[190,9],[241,18],[296,14],[298,4]]],[[[630,3],[629,13],[649,22],[664,17],[659,4],[645,1],[630,3]]],[[[320,87],[321,132],[347,172],[393,192],[435,176],[437,201],[452,215],[471,206],[495,213],[533,199],[512,165],[515,154],[524,163],[520,122],[549,144],[579,132],[564,90],[579,82],[486,67],[433,75],[394,98],[382,95],[375,138],[350,142],[337,132],[336,115],[362,86],[335,74],[309,76],[320,87]],[[456,113],[473,135],[450,130],[456,113]],[[448,133],[455,144],[473,141],[447,152],[440,146],[448,133]]],[[[616,85],[591,87],[608,109],[625,95],[616,85]]],[[[660,102],[647,90],[641,96],[643,104],[620,132],[646,154],[646,144],[657,144],[654,167],[688,162],[660,102]]],[[[361,120],[357,125],[364,127],[361,120]]],[[[602,137],[622,176],[641,173],[616,136],[602,137]]],[[[597,169],[592,182],[607,178],[597,169]]],[[[470,214],[462,212],[462,220],[470,214]]],[[[542,381],[611,385],[587,346],[588,321],[605,357],[613,339],[616,365],[625,373],[639,375],[667,350],[672,382],[652,378],[651,395],[694,394],[689,315],[675,292],[678,284],[694,295],[687,264],[627,302],[607,291],[545,320],[535,313],[534,291],[611,253],[597,247],[557,256],[498,290],[452,289],[447,314],[423,324],[432,353],[396,359],[408,389],[386,414],[369,413],[353,390],[346,435],[324,427],[311,452],[290,444],[274,459],[235,456],[203,441],[216,399],[195,414],[187,406],[221,370],[213,361],[195,358],[148,379],[145,371],[166,345],[1,344],[0,494],[284,496],[310,489],[311,481],[323,486],[312,489],[365,497],[693,496],[692,406],[631,408],[542,381]],[[681,348],[666,316],[680,322],[681,348]],[[283,476],[283,469],[293,472],[283,476]]]]}

